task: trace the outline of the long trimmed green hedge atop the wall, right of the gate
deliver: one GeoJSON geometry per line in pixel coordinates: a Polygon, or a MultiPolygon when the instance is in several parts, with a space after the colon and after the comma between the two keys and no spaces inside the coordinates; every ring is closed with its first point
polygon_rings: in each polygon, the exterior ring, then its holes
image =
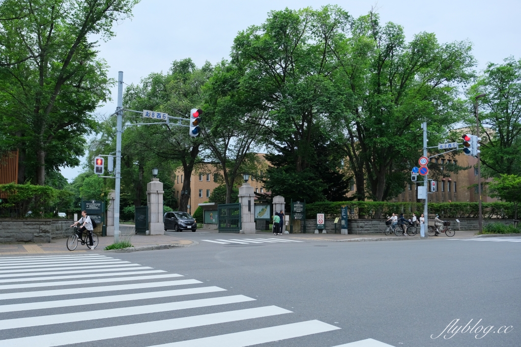
{"type": "MultiPolygon", "coordinates": [[[[374,219],[381,212],[381,218],[392,213],[404,213],[410,216],[423,213],[423,203],[413,202],[380,202],[380,201],[343,201],[343,202],[316,202],[306,205],[306,219],[315,219],[317,213],[326,214],[326,219],[340,217],[340,208],[348,206],[351,218],[374,219]]],[[[482,203],[483,218],[512,219],[514,218],[514,204],[505,202],[482,203]]],[[[442,218],[477,218],[478,203],[451,202],[429,203],[429,214],[439,214],[442,218]]]]}

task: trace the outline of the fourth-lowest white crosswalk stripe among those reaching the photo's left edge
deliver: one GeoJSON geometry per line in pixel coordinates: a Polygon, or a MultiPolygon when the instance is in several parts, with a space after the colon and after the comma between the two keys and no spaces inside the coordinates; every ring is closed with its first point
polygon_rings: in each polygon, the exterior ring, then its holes
{"type": "MultiPolygon", "coordinates": [[[[177,280],[177,281],[166,281],[166,282],[118,284],[117,286],[105,286],[105,287],[87,287],[87,288],[42,290],[42,291],[33,291],[33,292],[20,292],[20,293],[5,293],[5,294],[0,294],[0,300],[22,299],[22,298],[42,298],[44,296],[80,294],[80,293],[97,293],[97,292],[107,292],[107,291],[115,291],[115,290],[157,288],[157,287],[168,287],[168,286],[184,286],[185,284],[199,284],[199,283],[203,283],[203,282],[197,281],[194,279],[189,279],[189,280],[177,280]]],[[[97,298],[94,298],[93,300],[95,300],[97,302],[97,298]]],[[[2,307],[2,306],[0,306],[0,307],[2,307]]]]}

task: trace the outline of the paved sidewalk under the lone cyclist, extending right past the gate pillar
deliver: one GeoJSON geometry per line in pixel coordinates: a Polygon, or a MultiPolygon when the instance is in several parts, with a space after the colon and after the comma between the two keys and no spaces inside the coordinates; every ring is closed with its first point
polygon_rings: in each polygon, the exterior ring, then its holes
{"type": "MultiPolygon", "coordinates": [[[[123,234],[125,237],[125,234],[123,234]]],[[[68,253],[68,254],[76,254],[76,253],[86,253],[86,252],[101,252],[103,249],[109,244],[114,243],[113,236],[105,236],[100,237],[100,242],[98,243],[96,249],[94,251],[90,251],[87,249],[86,245],[81,245],[78,243],[78,247],[73,252],[67,249],[66,245],[67,239],[57,239],[53,240],[51,243],[24,243],[24,244],[0,244],[0,256],[9,256],[9,255],[35,255],[35,254],[57,254],[57,253],[68,253]]],[[[178,237],[168,236],[168,235],[153,235],[153,236],[145,236],[145,235],[131,235],[132,245],[139,246],[154,246],[154,245],[190,245],[193,241],[181,239],[178,237]]]]}

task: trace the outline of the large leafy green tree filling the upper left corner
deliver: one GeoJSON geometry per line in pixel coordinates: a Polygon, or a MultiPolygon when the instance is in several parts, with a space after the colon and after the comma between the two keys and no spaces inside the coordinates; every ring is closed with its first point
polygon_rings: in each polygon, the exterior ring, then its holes
{"type": "Polygon", "coordinates": [[[75,166],[94,109],[111,81],[97,41],[114,36],[138,0],[0,3],[0,117],[4,145],[19,148],[19,182],[45,184],[49,168],[75,166]]]}

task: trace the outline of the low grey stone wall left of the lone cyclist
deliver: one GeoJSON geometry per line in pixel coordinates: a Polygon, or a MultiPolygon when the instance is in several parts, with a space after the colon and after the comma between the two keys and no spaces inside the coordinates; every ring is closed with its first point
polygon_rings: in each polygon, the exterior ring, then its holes
{"type": "Polygon", "coordinates": [[[0,219],[0,242],[51,242],[68,238],[72,219],[0,219]]]}

